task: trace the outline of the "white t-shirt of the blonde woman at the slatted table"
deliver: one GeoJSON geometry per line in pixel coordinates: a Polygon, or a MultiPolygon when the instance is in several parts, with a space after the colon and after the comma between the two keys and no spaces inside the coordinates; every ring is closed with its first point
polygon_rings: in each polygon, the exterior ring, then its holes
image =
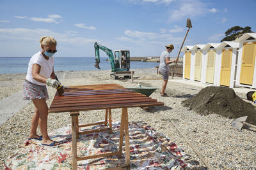
{"type": "Polygon", "coordinates": [[[41,83],[33,79],[32,76],[32,66],[33,64],[38,64],[41,66],[40,69],[40,75],[44,76],[45,78],[49,78],[52,74],[52,67],[54,64],[54,58],[49,57],[49,60],[44,58],[44,55],[42,55],[42,52],[37,52],[35,55],[31,57],[28,63],[28,72],[26,75],[26,80],[28,80],[31,83],[35,83],[36,85],[45,85],[45,83],[41,83]]]}

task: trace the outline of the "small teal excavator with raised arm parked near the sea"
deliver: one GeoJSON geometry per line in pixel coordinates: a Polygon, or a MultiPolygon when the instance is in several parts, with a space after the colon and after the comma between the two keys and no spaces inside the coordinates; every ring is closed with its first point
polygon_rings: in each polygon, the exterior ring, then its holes
{"type": "Polygon", "coordinates": [[[131,74],[134,72],[130,71],[130,52],[129,50],[115,50],[115,56],[113,55],[112,50],[107,48],[106,46],[100,45],[99,43],[94,43],[95,50],[95,64],[94,66],[97,69],[100,69],[100,51],[102,50],[106,52],[109,58],[109,62],[111,65],[111,73],[115,79],[118,79],[118,76],[124,76],[124,78],[131,78],[131,74]]]}

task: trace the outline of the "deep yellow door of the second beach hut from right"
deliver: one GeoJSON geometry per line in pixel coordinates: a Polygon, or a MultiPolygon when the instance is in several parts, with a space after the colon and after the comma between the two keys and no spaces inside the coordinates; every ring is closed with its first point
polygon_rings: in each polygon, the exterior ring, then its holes
{"type": "Polygon", "coordinates": [[[232,49],[222,50],[220,85],[229,87],[231,71],[232,49]]]}

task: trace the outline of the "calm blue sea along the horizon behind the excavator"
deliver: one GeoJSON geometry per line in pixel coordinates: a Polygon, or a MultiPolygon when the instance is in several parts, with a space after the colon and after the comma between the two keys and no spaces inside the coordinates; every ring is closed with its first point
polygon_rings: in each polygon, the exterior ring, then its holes
{"type": "MultiPolygon", "coordinates": [[[[0,74],[3,73],[27,73],[28,62],[30,57],[0,57],[0,74]]],[[[100,59],[100,69],[110,70],[107,58],[100,59]]],[[[95,57],[70,57],[70,58],[54,58],[54,71],[85,71],[99,70],[94,67],[95,57]]],[[[131,61],[130,69],[143,69],[159,66],[157,62],[140,62],[131,61]]]]}

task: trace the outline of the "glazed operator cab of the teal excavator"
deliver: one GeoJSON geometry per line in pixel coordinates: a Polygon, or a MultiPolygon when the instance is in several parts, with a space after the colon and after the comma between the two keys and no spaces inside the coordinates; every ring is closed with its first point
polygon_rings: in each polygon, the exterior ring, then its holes
{"type": "Polygon", "coordinates": [[[129,50],[115,50],[115,63],[116,67],[123,71],[130,69],[130,52],[129,50]]]}

